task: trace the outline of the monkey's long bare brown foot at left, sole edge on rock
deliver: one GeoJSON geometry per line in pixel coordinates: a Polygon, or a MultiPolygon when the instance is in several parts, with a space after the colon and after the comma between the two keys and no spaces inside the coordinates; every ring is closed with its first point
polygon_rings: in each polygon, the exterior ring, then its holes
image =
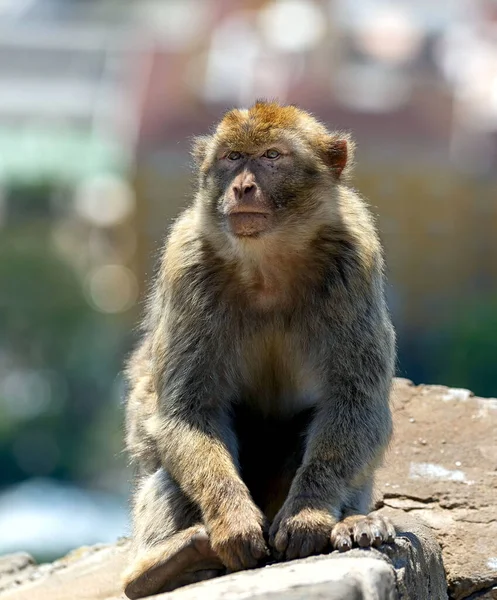
{"type": "Polygon", "coordinates": [[[138,556],[124,575],[124,593],[135,600],[212,579],[225,571],[204,527],[190,527],[138,556]]]}

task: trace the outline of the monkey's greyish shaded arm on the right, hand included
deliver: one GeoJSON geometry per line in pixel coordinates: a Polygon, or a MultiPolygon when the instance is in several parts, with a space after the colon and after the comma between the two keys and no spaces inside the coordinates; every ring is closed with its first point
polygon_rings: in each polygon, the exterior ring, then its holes
{"type": "Polygon", "coordinates": [[[367,486],[391,435],[393,333],[388,320],[377,328],[362,324],[329,336],[334,348],[325,361],[325,393],[302,465],[270,532],[272,545],[289,559],[326,548],[344,505],[367,486]]]}

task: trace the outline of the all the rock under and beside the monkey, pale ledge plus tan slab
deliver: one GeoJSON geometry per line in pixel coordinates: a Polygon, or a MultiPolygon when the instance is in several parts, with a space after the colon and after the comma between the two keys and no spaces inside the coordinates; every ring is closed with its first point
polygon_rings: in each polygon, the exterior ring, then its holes
{"type": "MultiPolygon", "coordinates": [[[[395,436],[377,483],[395,545],[271,565],[154,598],[443,600],[448,591],[452,600],[496,600],[497,400],[407,380],[396,380],[392,399],[395,436]]],[[[0,558],[0,595],[123,599],[127,552],[122,540],[48,565],[22,553],[0,558]]]]}

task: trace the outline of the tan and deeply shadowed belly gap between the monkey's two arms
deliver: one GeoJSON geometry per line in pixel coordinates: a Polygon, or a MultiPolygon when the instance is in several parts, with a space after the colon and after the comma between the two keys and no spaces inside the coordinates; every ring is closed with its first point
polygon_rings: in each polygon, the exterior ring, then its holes
{"type": "Polygon", "coordinates": [[[317,373],[301,335],[268,320],[243,343],[240,386],[232,405],[240,473],[273,518],[302,462],[318,400],[317,373]]]}

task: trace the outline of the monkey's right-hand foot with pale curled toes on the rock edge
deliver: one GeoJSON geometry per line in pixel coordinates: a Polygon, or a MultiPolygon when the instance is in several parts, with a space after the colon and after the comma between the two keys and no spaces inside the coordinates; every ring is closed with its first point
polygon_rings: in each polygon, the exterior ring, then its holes
{"type": "Polygon", "coordinates": [[[352,546],[377,548],[392,544],[394,539],[395,528],[390,519],[375,514],[346,517],[331,532],[331,544],[339,552],[346,552],[352,546]]]}

